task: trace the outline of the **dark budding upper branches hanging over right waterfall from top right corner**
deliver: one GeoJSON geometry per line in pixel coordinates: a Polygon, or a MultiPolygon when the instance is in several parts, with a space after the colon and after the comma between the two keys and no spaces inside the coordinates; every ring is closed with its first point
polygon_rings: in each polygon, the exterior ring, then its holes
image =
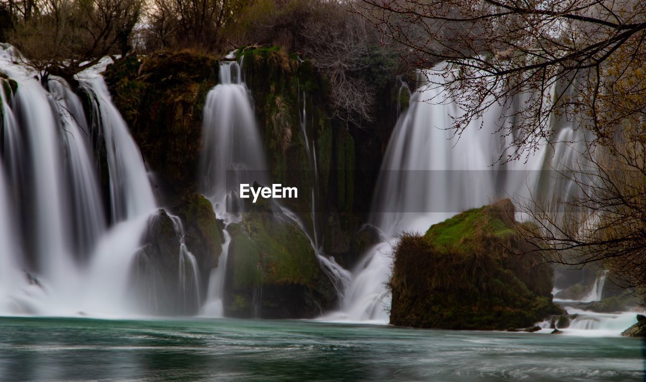
{"type": "MultiPolygon", "coordinates": [[[[630,60],[646,37],[646,3],[634,0],[356,0],[344,2],[397,43],[418,68],[446,63],[444,83],[466,112],[459,134],[488,106],[528,94],[507,117],[522,121],[503,160],[531,154],[552,137],[553,112],[585,115],[599,140],[614,123],[599,115],[610,58],[630,60]],[[572,97],[576,94],[576,97],[572,97]]],[[[616,72],[613,81],[631,74],[616,72]]],[[[579,121],[581,122],[581,121],[579,121]]],[[[501,130],[501,134],[505,134],[501,130]]]]}

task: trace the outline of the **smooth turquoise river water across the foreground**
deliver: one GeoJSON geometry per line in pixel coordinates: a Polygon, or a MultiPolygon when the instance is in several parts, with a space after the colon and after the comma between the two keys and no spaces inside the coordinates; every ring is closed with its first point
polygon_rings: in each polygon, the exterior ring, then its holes
{"type": "Polygon", "coordinates": [[[0,380],[643,381],[622,337],[311,321],[0,318],[0,380]]]}

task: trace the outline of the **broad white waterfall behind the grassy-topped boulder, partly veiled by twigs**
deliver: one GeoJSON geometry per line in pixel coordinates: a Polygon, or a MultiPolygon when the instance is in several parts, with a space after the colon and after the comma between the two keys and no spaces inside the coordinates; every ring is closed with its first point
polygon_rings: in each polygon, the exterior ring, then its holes
{"type": "MultiPolygon", "coordinates": [[[[457,136],[451,129],[453,117],[463,111],[443,86],[433,85],[444,81],[443,69],[426,75],[432,81],[414,92],[399,117],[375,188],[370,220],[387,239],[368,250],[353,270],[342,309],[333,319],[389,321],[386,283],[400,232],[423,234],[434,223],[499,197],[527,199],[539,190],[550,192],[553,180],[540,179],[545,177],[541,170],[574,161],[572,148],[555,143],[556,150],[543,145],[525,161],[501,163],[517,134],[514,119],[505,116],[513,116],[510,108],[526,95],[494,103],[457,136]]],[[[581,141],[567,123],[554,125],[555,142],[581,141]]]]}

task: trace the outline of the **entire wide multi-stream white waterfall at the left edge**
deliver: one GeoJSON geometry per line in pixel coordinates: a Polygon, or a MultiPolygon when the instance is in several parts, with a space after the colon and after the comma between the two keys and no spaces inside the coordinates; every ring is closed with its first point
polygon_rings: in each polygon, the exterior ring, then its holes
{"type": "Polygon", "coordinates": [[[0,314],[132,314],[132,257],[156,209],[141,153],[99,68],[77,78],[94,109],[87,116],[63,79],[50,77],[43,87],[18,58],[1,47],[0,70],[17,90],[0,90],[0,314]],[[112,226],[90,117],[105,137],[112,226]]]}

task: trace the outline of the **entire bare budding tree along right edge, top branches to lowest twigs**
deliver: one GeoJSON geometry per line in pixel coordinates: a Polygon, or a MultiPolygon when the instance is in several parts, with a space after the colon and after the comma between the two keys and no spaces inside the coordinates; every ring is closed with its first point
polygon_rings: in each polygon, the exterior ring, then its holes
{"type": "Polygon", "coordinates": [[[356,0],[346,3],[403,47],[419,68],[443,63],[446,92],[466,110],[460,134],[494,103],[516,121],[511,154],[554,141],[566,119],[586,136],[579,161],[559,171],[573,188],[535,194],[536,226],[519,225],[546,261],[601,263],[623,286],[646,286],[646,3],[633,0],[356,0]],[[531,227],[531,228],[528,228],[531,227]]]}

